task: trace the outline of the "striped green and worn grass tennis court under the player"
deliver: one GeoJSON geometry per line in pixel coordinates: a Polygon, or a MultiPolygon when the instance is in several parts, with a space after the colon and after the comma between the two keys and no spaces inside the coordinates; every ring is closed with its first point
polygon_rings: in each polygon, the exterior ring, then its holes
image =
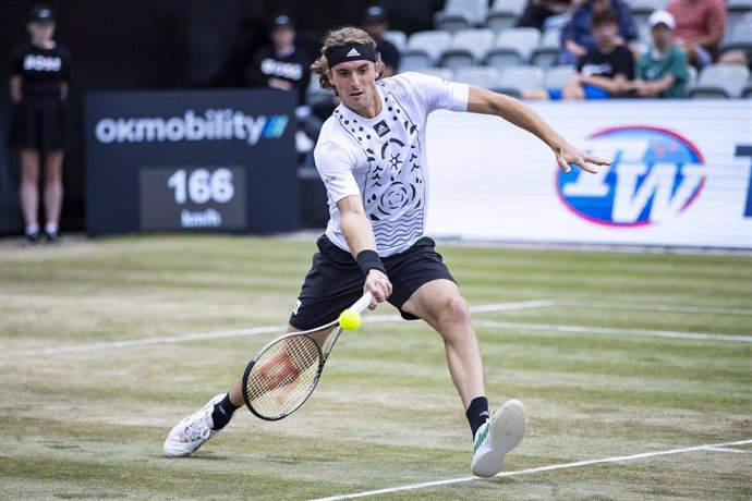
{"type": "Polygon", "coordinates": [[[493,479],[438,334],[389,305],[293,416],[244,408],[194,456],[169,429],[280,332],[306,239],[0,244],[4,499],[750,499],[752,257],[439,242],[489,401],[529,430],[493,479]]]}

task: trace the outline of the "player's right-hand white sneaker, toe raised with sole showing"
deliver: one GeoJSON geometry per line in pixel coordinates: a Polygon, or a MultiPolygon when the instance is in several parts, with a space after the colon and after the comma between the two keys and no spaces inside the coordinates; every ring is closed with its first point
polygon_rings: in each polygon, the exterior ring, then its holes
{"type": "Polygon", "coordinates": [[[519,400],[510,400],[495,412],[475,433],[473,475],[493,477],[501,472],[507,454],[522,441],[526,421],[525,408],[519,400]]]}

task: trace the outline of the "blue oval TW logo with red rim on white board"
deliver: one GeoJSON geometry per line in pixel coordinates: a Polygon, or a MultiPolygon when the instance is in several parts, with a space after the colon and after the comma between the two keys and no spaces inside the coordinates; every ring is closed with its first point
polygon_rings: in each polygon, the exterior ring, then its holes
{"type": "Polygon", "coordinates": [[[592,222],[635,227],[671,219],[698,198],[705,182],[698,148],[666,130],[608,129],[587,145],[611,166],[597,174],[559,171],[558,188],[563,203],[592,222]]]}

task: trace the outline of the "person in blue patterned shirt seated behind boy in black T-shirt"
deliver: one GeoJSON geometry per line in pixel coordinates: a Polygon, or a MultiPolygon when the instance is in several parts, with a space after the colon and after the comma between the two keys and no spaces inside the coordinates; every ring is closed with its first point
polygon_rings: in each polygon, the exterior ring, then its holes
{"type": "Polygon", "coordinates": [[[597,12],[612,10],[618,17],[617,42],[638,39],[634,17],[624,0],[583,0],[561,30],[561,53],[559,64],[574,64],[597,45],[592,33],[593,16],[597,12]]]}

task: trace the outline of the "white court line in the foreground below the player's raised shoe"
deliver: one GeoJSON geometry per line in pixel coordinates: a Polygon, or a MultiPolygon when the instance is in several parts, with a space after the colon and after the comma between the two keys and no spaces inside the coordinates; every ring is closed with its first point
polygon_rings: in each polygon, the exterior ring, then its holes
{"type": "MultiPolygon", "coordinates": [[[[641,454],[622,455],[622,456],[616,456],[616,457],[603,457],[599,460],[585,460],[585,461],[577,461],[574,463],[551,464],[551,465],[547,465],[547,466],[538,466],[536,468],[519,469],[517,472],[502,472],[502,473],[496,475],[496,477],[494,477],[494,478],[514,477],[514,476],[519,476],[519,475],[531,475],[531,474],[536,474],[536,473],[541,473],[541,472],[551,472],[554,469],[567,469],[567,468],[577,468],[580,466],[590,466],[593,464],[619,463],[619,462],[623,462],[623,461],[644,460],[646,457],[655,457],[655,456],[670,455],[670,454],[683,454],[687,452],[708,450],[711,448],[715,449],[715,448],[725,448],[725,447],[732,447],[732,445],[747,445],[750,443],[752,443],[752,440],[740,440],[737,442],[727,442],[727,443],[708,443],[705,445],[694,445],[694,447],[687,447],[687,448],[680,448],[680,449],[669,449],[667,451],[643,452],[641,454]]],[[[329,498],[319,498],[319,499],[316,499],[314,501],[339,501],[342,499],[366,498],[369,496],[390,494],[393,492],[403,492],[403,491],[408,491],[408,490],[425,489],[425,488],[429,488],[429,487],[448,486],[451,484],[461,484],[461,482],[468,482],[468,481],[473,481],[473,480],[482,480],[482,479],[478,477],[449,478],[446,480],[426,481],[423,484],[412,484],[412,485],[400,486],[400,487],[388,487],[385,489],[369,490],[369,491],[364,491],[364,492],[355,492],[355,493],[351,493],[351,494],[331,496],[329,498]]]]}

